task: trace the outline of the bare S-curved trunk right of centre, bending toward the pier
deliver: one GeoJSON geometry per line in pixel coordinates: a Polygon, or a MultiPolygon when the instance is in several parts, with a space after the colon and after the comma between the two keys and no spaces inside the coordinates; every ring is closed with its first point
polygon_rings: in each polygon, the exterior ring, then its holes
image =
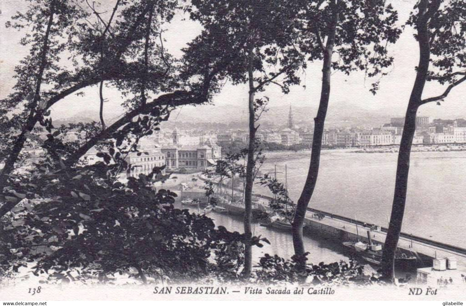
{"type": "Polygon", "coordinates": [[[322,67],[322,90],[319,102],[319,109],[317,116],[314,118],[314,138],[312,140],[311,161],[309,164],[308,177],[296,204],[295,217],[293,219],[293,246],[295,248],[295,255],[299,256],[302,260],[302,271],[305,269],[305,259],[302,255],[305,253],[304,244],[302,241],[302,227],[304,218],[306,216],[307,207],[314,192],[315,184],[317,182],[317,175],[319,173],[320,154],[322,147],[322,135],[325,123],[325,116],[327,115],[327,108],[329,105],[330,97],[330,75],[332,64],[333,46],[335,43],[336,25],[338,23],[338,13],[334,13],[332,23],[329,25],[329,34],[325,46],[323,67],[322,67]]]}

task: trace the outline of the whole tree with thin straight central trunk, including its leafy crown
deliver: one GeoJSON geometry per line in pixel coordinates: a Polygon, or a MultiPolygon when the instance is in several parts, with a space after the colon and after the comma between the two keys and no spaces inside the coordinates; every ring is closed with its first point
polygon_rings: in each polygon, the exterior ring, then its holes
{"type": "MultiPolygon", "coordinates": [[[[202,41],[216,40],[219,48],[213,56],[230,59],[226,76],[233,84],[248,84],[249,140],[246,165],[244,231],[245,268],[248,278],[252,269],[252,190],[258,143],[256,122],[266,105],[264,99],[256,99],[258,92],[269,84],[277,84],[284,93],[289,86],[298,84],[296,71],[302,67],[303,59],[297,48],[296,16],[303,7],[301,0],[194,0],[187,7],[193,20],[199,20],[205,30],[199,37],[202,41]],[[269,66],[279,66],[270,72],[269,66]],[[282,80],[280,80],[282,78],[282,80]]],[[[201,46],[201,45],[200,45],[201,46]]],[[[202,48],[202,47],[199,47],[202,48]]]]}

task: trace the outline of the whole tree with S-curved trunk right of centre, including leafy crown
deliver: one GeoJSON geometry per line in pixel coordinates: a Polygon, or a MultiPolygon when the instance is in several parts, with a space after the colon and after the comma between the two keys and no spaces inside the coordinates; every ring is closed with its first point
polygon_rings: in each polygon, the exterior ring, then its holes
{"type": "MultiPolygon", "coordinates": [[[[319,172],[322,135],[330,99],[332,69],[349,75],[363,70],[369,77],[386,74],[382,71],[391,65],[393,58],[387,53],[387,44],[394,43],[400,30],[395,27],[397,13],[384,0],[320,0],[312,1],[301,18],[306,20],[302,32],[308,37],[303,50],[309,60],[322,59],[322,90],[317,115],[314,118],[314,138],[308,176],[296,204],[293,220],[293,245],[295,255],[306,257],[302,240],[302,227],[306,209],[314,192],[319,172]],[[338,54],[336,61],[332,56],[338,54]]],[[[372,84],[375,94],[378,81],[372,84]]]]}

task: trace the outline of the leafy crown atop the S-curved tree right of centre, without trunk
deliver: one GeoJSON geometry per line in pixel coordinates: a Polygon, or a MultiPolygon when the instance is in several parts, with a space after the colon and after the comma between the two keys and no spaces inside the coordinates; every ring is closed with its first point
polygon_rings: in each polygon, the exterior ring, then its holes
{"type": "MultiPolygon", "coordinates": [[[[387,46],[397,41],[401,29],[396,26],[397,11],[385,0],[309,1],[301,14],[305,22],[298,25],[305,37],[301,49],[308,54],[308,60],[323,59],[325,38],[329,37],[335,14],[338,26],[332,46],[332,53],[336,54],[332,69],[346,75],[356,70],[364,71],[368,77],[386,75],[384,68],[393,62],[387,46]]],[[[380,79],[372,83],[373,94],[379,82],[380,79]]]]}

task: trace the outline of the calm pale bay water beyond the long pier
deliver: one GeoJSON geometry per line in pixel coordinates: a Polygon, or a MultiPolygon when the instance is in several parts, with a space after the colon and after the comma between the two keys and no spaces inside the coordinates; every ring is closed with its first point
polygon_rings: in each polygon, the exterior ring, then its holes
{"type": "MultiPolygon", "coordinates": [[[[277,178],[284,181],[286,164],[288,190],[296,202],[307,176],[309,157],[302,157],[302,152],[272,153],[268,157],[261,171],[271,172],[276,164],[277,178]]],[[[396,164],[397,153],[324,150],[309,207],[388,226],[396,164]]],[[[402,230],[466,247],[465,186],[466,152],[413,152],[402,230]]]]}

